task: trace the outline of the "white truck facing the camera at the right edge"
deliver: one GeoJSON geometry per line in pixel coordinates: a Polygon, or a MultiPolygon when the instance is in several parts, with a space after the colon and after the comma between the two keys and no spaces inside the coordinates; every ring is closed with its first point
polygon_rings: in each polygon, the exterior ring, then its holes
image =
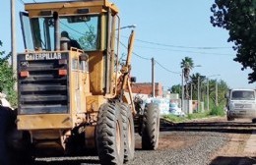
{"type": "Polygon", "coordinates": [[[227,98],[227,121],[248,118],[256,122],[256,93],[254,89],[229,89],[227,98]]]}

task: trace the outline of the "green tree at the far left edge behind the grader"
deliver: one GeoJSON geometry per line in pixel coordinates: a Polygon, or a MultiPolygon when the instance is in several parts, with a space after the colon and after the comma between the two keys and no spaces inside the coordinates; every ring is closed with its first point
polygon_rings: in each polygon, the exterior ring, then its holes
{"type": "MultiPolygon", "coordinates": [[[[0,41],[0,47],[2,42],[0,41]]],[[[8,60],[11,57],[11,53],[5,56],[4,51],[0,51],[0,91],[7,94],[7,99],[10,101],[12,106],[17,105],[17,93],[14,90],[16,80],[12,67],[9,65],[8,60]]]]}

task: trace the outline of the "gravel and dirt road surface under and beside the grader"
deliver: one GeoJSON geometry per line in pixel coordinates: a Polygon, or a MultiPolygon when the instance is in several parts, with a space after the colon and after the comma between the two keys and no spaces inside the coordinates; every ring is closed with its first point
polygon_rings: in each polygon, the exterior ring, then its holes
{"type": "MultiPolygon", "coordinates": [[[[96,155],[36,157],[35,164],[99,164],[96,155]]],[[[135,158],[127,165],[253,165],[256,164],[256,124],[212,118],[186,123],[162,123],[156,151],[141,149],[136,135],[135,158]]]]}

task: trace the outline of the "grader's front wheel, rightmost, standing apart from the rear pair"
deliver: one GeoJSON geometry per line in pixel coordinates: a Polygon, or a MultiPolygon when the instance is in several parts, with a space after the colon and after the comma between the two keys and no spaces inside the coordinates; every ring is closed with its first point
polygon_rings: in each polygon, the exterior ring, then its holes
{"type": "Polygon", "coordinates": [[[155,150],[159,146],[160,110],[157,104],[146,104],[142,124],[142,149],[155,150]]]}

